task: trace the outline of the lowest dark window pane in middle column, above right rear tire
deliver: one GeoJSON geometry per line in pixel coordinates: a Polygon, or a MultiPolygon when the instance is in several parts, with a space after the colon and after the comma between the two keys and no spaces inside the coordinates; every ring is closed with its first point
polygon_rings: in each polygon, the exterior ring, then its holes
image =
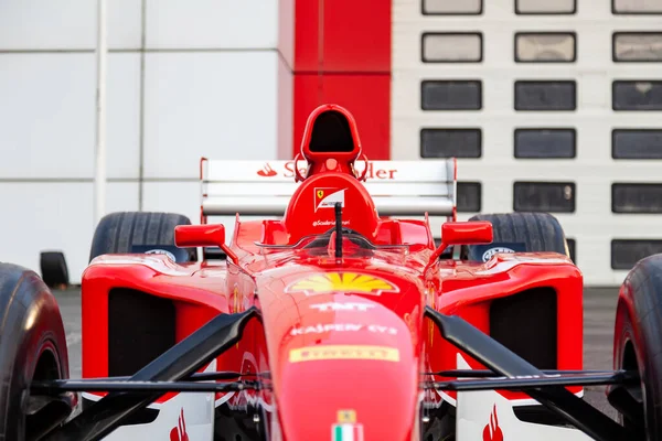
{"type": "Polygon", "coordinates": [[[515,212],[575,212],[574,182],[515,182],[515,212]]]}

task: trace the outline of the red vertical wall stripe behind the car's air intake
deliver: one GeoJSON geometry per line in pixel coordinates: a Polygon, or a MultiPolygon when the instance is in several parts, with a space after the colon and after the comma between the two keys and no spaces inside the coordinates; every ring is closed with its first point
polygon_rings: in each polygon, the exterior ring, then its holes
{"type": "Polygon", "coordinates": [[[391,151],[391,0],[295,0],[293,153],[325,103],[356,118],[363,152],[391,151]]]}

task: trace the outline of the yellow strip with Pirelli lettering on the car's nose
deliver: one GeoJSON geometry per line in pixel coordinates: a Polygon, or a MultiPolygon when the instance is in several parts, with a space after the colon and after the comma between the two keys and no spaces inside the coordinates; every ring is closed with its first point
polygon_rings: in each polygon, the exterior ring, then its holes
{"type": "Polygon", "coordinates": [[[320,359],[375,359],[399,362],[399,351],[386,346],[324,345],[300,347],[290,351],[290,363],[316,362],[320,359]]]}

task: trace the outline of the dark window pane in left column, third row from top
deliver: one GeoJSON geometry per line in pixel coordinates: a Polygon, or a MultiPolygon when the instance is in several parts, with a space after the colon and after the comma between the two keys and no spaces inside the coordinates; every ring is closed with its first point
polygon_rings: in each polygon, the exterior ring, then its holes
{"type": "Polygon", "coordinates": [[[480,110],[482,83],[479,80],[425,80],[420,83],[424,110],[480,110]]]}

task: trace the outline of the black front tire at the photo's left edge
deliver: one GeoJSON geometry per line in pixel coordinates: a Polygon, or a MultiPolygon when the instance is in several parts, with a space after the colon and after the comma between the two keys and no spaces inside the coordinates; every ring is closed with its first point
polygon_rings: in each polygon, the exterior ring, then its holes
{"type": "Polygon", "coordinates": [[[33,399],[33,380],[68,378],[60,308],[39,276],[0,263],[0,440],[35,438],[72,412],[72,394],[33,399]]]}

